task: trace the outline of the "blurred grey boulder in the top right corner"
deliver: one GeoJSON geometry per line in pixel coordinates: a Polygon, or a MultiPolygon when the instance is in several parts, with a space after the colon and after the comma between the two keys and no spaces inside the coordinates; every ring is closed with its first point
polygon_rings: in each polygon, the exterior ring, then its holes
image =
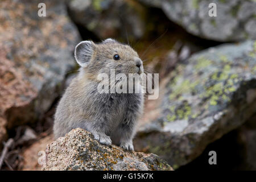
{"type": "Polygon", "coordinates": [[[253,0],[138,1],[159,7],[170,20],[202,38],[221,42],[256,39],[256,2],[253,0]],[[208,15],[209,3],[216,3],[216,17],[208,15]]]}

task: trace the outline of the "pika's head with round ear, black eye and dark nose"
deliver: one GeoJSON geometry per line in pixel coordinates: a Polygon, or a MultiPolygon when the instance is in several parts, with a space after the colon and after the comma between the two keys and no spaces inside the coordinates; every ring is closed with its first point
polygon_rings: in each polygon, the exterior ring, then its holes
{"type": "Polygon", "coordinates": [[[101,43],[92,41],[80,42],[75,48],[77,63],[85,70],[85,73],[95,75],[107,73],[110,69],[115,74],[143,73],[142,60],[133,48],[121,44],[113,39],[106,39],[101,43]]]}

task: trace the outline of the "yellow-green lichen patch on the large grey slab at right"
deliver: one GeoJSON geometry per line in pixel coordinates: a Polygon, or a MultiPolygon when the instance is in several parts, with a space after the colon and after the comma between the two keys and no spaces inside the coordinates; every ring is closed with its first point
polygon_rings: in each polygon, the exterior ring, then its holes
{"type": "MultiPolygon", "coordinates": [[[[236,91],[236,84],[241,79],[237,73],[232,73],[232,61],[228,60],[226,55],[218,55],[221,62],[213,66],[213,61],[208,57],[200,56],[195,60],[194,70],[197,71],[191,75],[177,76],[173,79],[171,86],[172,93],[169,98],[172,101],[181,103],[179,106],[171,106],[170,114],[167,115],[167,121],[175,121],[177,119],[196,118],[200,115],[200,111],[196,110],[188,104],[187,96],[195,96],[201,99],[201,108],[207,110],[209,106],[216,106],[218,104],[226,104],[230,102],[230,93],[236,91]],[[218,67],[216,70],[216,66],[218,67]],[[205,68],[211,68],[205,70],[205,68]],[[197,74],[203,71],[203,75],[197,74]],[[211,75],[207,75],[207,71],[213,71],[211,75]],[[195,81],[193,81],[195,80],[195,81]],[[185,101],[185,103],[184,103],[185,101]]],[[[255,68],[256,71],[256,66],[255,68]]],[[[183,71],[184,72],[184,71],[183,71]]],[[[210,73],[208,73],[210,74],[210,73]]]]}

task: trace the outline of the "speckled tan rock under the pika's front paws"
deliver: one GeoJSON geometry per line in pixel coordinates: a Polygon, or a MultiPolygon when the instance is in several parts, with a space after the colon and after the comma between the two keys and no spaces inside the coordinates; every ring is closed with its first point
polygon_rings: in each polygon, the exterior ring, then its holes
{"type": "Polygon", "coordinates": [[[43,170],[172,170],[155,154],[124,151],[105,146],[83,129],[74,129],[65,137],[47,145],[43,170]]]}

